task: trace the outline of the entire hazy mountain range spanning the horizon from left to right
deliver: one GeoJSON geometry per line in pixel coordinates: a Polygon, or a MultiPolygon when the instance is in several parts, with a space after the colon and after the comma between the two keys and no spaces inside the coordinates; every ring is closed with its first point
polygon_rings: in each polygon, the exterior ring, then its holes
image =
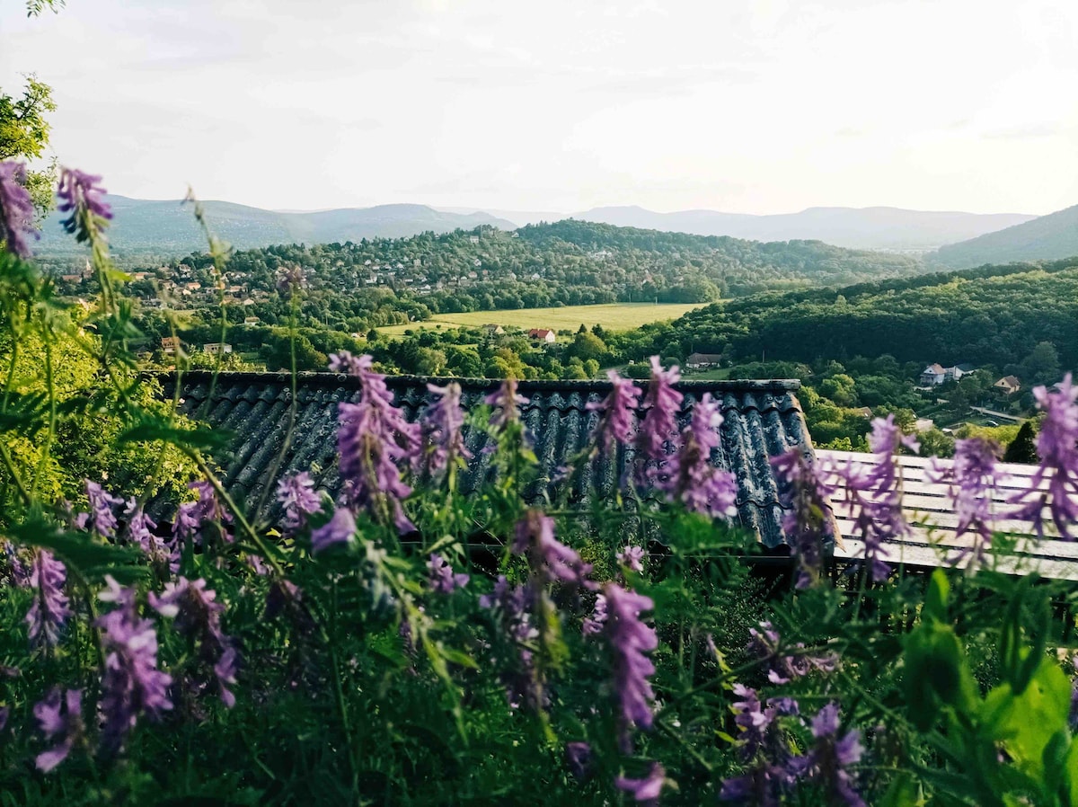
{"type": "MultiPolygon", "coordinates": [[[[109,241],[118,257],[176,257],[206,248],[190,205],[110,195],[115,213],[109,241]]],[[[426,205],[378,205],[315,213],[264,210],[231,202],[205,202],[218,237],[237,249],[274,244],[331,244],[421,232],[473,230],[488,224],[515,230],[568,216],[553,211],[476,210],[426,205]]],[[[63,232],[59,214],[42,227],[42,257],[83,254],[63,232]]],[[[760,242],[823,241],[852,249],[931,252],[926,261],[949,268],[1056,259],[1078,255],[1078,206],[1042,216],[904,210],[897,207],[810,207],[801,213],[754,216],[716,210],[655,213],[642,207],[595,207],[571,218],[690,235],[728,235],[760,242]],[[932,252],[932,250],[938,250],[932,252]]]]}

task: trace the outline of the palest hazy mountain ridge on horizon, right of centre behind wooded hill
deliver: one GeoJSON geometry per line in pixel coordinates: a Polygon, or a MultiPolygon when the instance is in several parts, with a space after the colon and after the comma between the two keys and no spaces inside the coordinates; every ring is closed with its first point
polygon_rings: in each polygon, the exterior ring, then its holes
{"type": "Polygon", "coordinates": [[[898,207],[810,207],[752,216],[716,210],[654,213],[642,207],[595,207],[573,218],[618,227],[730,235],[749,241],[823,241],[852,249],[931,250],[1036,218],[1025,214],[934,213],[898,207]]]}

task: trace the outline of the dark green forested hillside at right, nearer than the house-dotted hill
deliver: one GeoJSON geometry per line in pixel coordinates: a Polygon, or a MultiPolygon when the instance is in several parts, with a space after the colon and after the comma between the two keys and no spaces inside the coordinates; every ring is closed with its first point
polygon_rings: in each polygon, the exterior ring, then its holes
{"type": "Polygon", "coordinates": [[[889,354],[1004,367],[1041,342],[1064,368],[1078,364],[1078,259],[723,302],[641,329],[636,353],[800,361],[889,354]]]}

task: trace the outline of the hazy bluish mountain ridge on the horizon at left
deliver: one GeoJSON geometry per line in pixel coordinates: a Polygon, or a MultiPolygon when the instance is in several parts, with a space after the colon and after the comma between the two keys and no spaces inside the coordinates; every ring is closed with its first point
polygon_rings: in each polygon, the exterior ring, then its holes
{"type": "MultiPolygon", "coordinates": [[[[206,238],[195,222],[191,205],[179,201],[150,201],[109,195],[114,218],[109,243],[120,256],[152,254],[182,256],[205,250],[206,238]]],[[[331,244],[373,237],[404,237],[428,230],[452,232],[490,224],[502,230],[516,225],[485,213],[443,213],[426,205],[378,205],[319,213],[277,213],[231,202],[204,202],[213,233],[237,249],[272,244],[331,244]]],[[[53,213],[41,230],[34,251],[41,255],[82,252],[59,224],[63,216],[53,213]]]]}

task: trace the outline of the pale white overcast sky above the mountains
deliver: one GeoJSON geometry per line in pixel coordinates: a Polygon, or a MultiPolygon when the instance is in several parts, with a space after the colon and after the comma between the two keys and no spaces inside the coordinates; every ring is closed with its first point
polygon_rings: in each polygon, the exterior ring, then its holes
{"type": "Polygon", "coordinates": [[[1074,0],[0,0],[0,87],[111,192],[1044,214],[1078,204],[1074,0]]]}

